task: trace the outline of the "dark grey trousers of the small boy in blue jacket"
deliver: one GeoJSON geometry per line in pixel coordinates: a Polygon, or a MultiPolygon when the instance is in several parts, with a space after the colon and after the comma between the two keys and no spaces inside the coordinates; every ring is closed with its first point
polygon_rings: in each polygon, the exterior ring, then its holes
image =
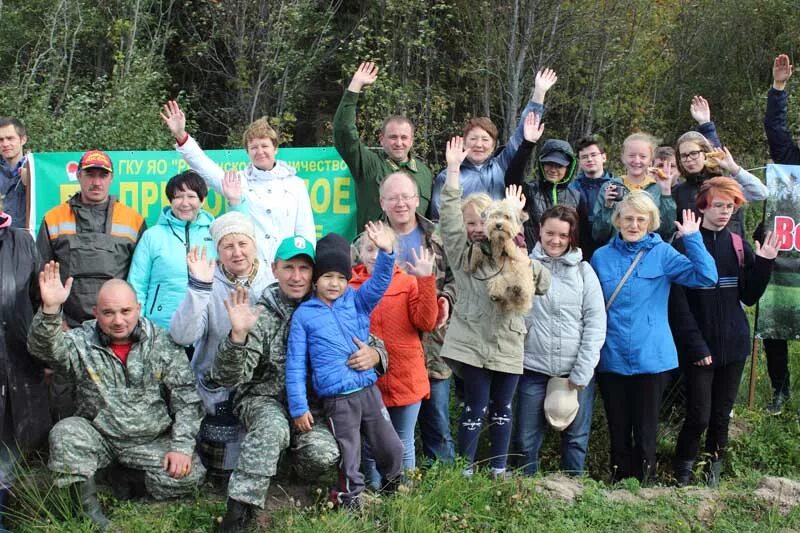
{"type": "Polygon", "coordinates": [[[339,445],[340,503],[350,504],[364,491],[361,435],[367,440],[384,482],[394,481],[403,468],[403,443],[392,426],[376,385],[323,400],[331,433],[339,445]]]}

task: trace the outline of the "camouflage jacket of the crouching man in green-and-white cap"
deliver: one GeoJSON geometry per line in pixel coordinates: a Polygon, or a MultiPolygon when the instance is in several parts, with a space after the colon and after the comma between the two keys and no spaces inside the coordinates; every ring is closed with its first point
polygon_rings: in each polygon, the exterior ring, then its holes
{"type": "MultiPolygon", "coordinates": [[[[237,387],[236,404],[247,396],[271,396],[286,402],[286,339],[289,320],[300,303],[286,298],[278,283],[272,283],[258,301],[266,310],[247,334],[245,343],[232,342],[230,335],[220,342],[211,380],[223,387],[237,387]]],[[[370,336],[369,345],[381,357],[376,368],[381,374],[387,367],[383,342],[370,336]]]]}

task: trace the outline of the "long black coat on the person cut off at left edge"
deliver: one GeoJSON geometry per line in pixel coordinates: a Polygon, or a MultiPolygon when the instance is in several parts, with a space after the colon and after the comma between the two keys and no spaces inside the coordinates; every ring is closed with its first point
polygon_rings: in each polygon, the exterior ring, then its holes
{"type": "Polygon", "coordinates": [[[50,430],[44,367],[26,345],[40,269],[30,234],[0,229],[0,435],[13,435],[23,450],[45,444],[50,430]],[[7,409],[12,428],[3,427],[7,409]]]}

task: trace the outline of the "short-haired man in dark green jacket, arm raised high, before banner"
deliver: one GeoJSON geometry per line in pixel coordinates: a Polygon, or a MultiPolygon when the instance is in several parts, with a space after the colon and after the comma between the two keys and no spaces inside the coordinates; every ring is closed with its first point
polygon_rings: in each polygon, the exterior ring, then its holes
{"type": "Polygon", "coordinates": [[[372,85],[376,79],[378,67],[370,62],[361,63],[333,117],[333,144],[350,167],[356,182],[358,231],[362,231],[368,221],[381,218],[378,189],[383,178],[392,172],[403,170],[417,182],[420,191],[417,213],[420,215],[424,216],[428,211],[433,188],[431,169],[423,160],[410,154],[414,145],[414,125],[408,118],[392,115],[383,121],[378,135],[382,154],[371,151],[361,142],[356,129],[358,95],[363,87],[372,85]]]}

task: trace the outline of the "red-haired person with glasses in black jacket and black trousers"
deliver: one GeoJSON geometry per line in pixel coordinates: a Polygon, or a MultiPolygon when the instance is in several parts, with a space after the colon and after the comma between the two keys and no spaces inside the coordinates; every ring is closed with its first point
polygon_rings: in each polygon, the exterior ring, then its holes
{"type": "MultiPolygon", "coordinates": [[[[777,237],[770,233],[763,245],[756,241],[755,253],[743,241],[741,246],[735,244],[727,226],[745,203],[741,187],[731,178],[711,178],[700,186],[700,235],[714,258],[719,282],[705,289],[673,285],[670,292],[669,321],[686,378],[686,420],[675,446],[679,486],[689,483],[703,432],[708,484],[719,484],[731,408],[750,353],[750,326],[740,302],[758,302],[778,255],[777,237]]],[[[685,249],[684,240],[676,242],[680,251],[685,249]]]]}

